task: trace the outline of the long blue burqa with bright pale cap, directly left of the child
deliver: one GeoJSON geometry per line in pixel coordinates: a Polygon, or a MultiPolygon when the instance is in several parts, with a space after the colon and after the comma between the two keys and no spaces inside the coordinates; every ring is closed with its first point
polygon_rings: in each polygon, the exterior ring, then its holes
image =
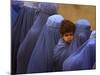
{"type": "Polygon", "coordinates": [[[28,64],[28,73],[50,72],[53,70],[53,48],[60,38],[59,27],[63,19],[58,14],[48,18],[32,52],[28,64]]]}

